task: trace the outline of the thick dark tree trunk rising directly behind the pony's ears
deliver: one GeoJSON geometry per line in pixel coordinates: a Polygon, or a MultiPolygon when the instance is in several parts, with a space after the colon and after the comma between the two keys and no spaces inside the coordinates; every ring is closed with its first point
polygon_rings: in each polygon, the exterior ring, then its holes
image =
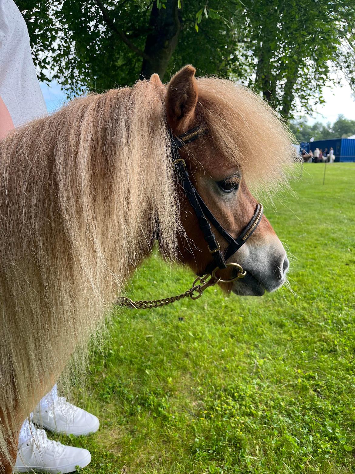
{"type": "Polygon", "coordinates": [[[177,0],[167,0],[165,9],[157,7],[154,1],[149,20],[150,33],[147,36],[143,58],[142,75],[147,79],[151,74],[159,74],[163,79],[168,67],[169,59],[177,46],[180,32],[180,19],[178,15],[177,0]]]}

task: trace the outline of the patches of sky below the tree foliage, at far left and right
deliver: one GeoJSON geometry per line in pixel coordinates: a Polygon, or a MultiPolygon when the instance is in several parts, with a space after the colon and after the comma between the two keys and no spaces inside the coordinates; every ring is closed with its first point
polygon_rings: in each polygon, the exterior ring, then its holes
{"type": "MultiPolygon", "coordinates": [[[[65,94],[61,91],[58,83],[51,85],[41,84],[44,100],[49,112],[54,112],[66,102],[65,94]]],[[[316,120],[320,122],[334,122],[339,114],[344,114],[346,118],[355,120],[355,101],[350,86],[342,80],[341,86],[325,87],[323,89],[326,103],[310,110],[308,121],[313,124],[316,120]],[[313,117],[311,117],[313,112],[313,117]]],[[[354,130],[355,133],[355,130],[354,130]]]]}

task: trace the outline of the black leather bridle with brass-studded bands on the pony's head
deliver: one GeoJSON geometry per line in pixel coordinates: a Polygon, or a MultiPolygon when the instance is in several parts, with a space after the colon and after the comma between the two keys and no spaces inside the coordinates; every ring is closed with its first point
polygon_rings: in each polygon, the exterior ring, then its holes
{"type": "MultiPolygon", "coordinates": [[[[197,138],[204,136],[206,133],[206,128],[196,127],[188,130],[186,133],[179,135],[178,137],[171,137],[171,155],[174,160],[173,164],[178,180],[185,191],[187,200],[195,212],[198,225],[204,235],[204,240],[207,242],[208,250],[213,256],[213,261],[211,261],[206,266],[204,272],[198,273],[198,275],[203,276],[211,273],[213,277],[215,277],[217,270],[223,270],[227,268],[227,266],[231,265],[227,264],[226,261],[235,252],[237,252],[237,250],[239,250],[242,245],[245,244],[245,242],[257,228],[263,215],[263,206],[262,204],[257,204],[253,217],[236,238],[233,238],[231,234],[229,234],[213,216],[213,213],[208,209],[207,205],[204,203],[204,200],[198,194],[195,186],[191,182],[190,175],[186,168],[186,163],[180,157],[179,153],[180,148],[197,140],[197,138]],[[210,223],[213,224],[213,226],[229,244],[224,253],[222,252],[221,246],[211,229],[210,223]]],[[[240,276],[244,275],[241,273],[240,276]]],[[[232,279],[227,281],[232,281],[232,279]]]]}

